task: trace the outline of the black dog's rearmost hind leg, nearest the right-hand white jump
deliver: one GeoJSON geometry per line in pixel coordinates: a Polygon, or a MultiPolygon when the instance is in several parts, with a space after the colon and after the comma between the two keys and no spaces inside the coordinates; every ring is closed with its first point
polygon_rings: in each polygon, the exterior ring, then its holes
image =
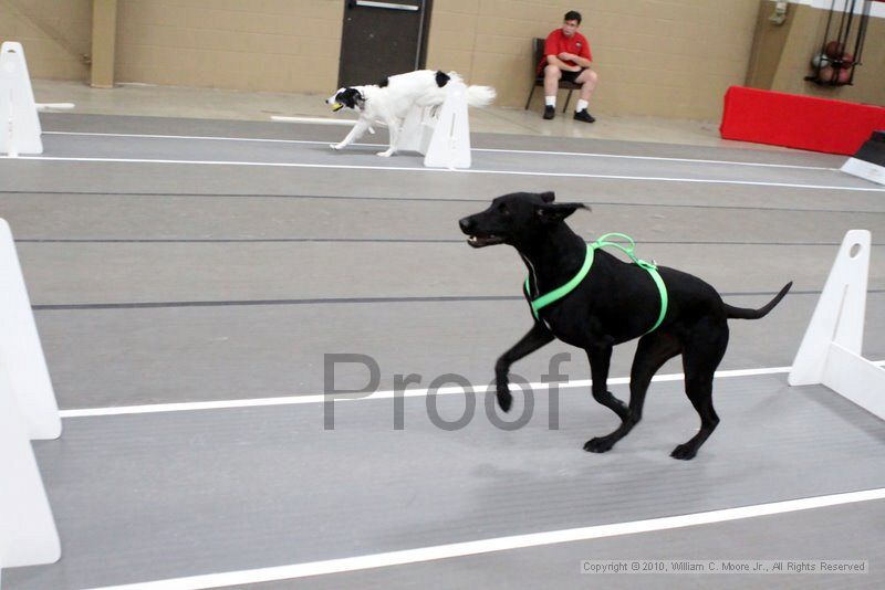
{"type": "Polygon", "coordinates": [[[722,360],[728,346],[728,325],[726,320],[707,319],[689,337],[683,352],[685,368],[685,392],[691,405],[700,415],[700,430],[689,441],[673,450],[673,459],[687,461],[694,459],[698,449],[712,434],[719,424],[719,417],[712,408],[712,379],[716,368],[722,360]]]}

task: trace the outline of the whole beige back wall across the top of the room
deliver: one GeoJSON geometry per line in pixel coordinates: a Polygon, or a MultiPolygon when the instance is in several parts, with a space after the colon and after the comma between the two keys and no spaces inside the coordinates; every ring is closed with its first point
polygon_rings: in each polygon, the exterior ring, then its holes
{"type": "MultiPolygon", "coordinates": [[[[88,80],[91,0],[0,0],[0,40],[33,77],[88,80]]],[[[804,82],[825,11],[771,0],[434,0],[427,66],[456,70],[521,107],[530,39],[584,14],[600,86],[591,110],[718,119],[732,84],[885,104],[885,19],[871,19],[855,85],[804,82]]],[[[344,0],[119,0],[117,82],[325,94],[337,83],[344,0]]],[[[535,92],[534,108],[541,104],[535,92]]]]}

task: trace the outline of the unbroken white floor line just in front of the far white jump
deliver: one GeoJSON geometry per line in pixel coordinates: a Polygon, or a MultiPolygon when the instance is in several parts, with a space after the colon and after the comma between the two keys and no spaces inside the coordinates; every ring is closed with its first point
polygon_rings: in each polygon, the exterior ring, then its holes
{"type": "Polygon", "coordinates": [[[885,192],[885,188],[872,187],[839,187],[827,185],[798,185],[793,182],[762,182],[750,180],[719,180],[711,178],[669,178],[669,177],[645,177],[645,176],[623,176],[623,175],[590,175],[580,172],[527,172],[522,170],[449,170],[446,168],[424,168],[409,166],[350,166],[340,164],[296,164],[296,162],[262,162],[262,161],[225,161],[225,160],[169,160],[153,158],[74,158],[61,156],[0,156],[0,160],[15,161],[71,161],[71,162],[107,162],[107,164],[173,164],[186,166],[254,166],[269,168],[319,168],[327,170],[384,170],[388,172],[428,172],[428,173],[462,173],[462,175],[511,175],[511,176],[533,176],[548,178],[598,178],[605,180],[642,180],[654,182],[694,182],[709,185],[743,185],[756,187],[781,187],[792,189],[809,190],[844,190],[855,192],[885,192]]]}

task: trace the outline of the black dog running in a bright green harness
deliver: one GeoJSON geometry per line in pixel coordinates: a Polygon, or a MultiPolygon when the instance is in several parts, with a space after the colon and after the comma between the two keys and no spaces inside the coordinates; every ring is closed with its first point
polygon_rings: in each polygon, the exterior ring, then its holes
{"type": "MultiPolygon", "coordinates": [[[[529,268],[525,296],[533,299],[573,280],[587,256],[587,245],[565,223],[580,203],[554,203],[552,192],[517,192],[498,197],[481,213],[460,220],[473,247],[510,244],[529,268]]],[[[759,309],[733,307],[714,287],[690,274],[657,267],[668,305],[662,314],[662,293],[652,273],[595,250],[590,274],[565,296],[538,310],[534,326],[494,365],[498,403],[510,410],[510,366],[554,338],[583,348],[590,358],[593,398],[621,418],[612,433],[591,439],[585,451],[604,453],[642,419],[645,392],[655,372],[683,355],[685,390],[700,414],[700,431],[670,456],[693,459],[719,423],[712,408],[714,371],[728,345],[728,319],[757,319],[768,314],[790,291],[788,283],[759,309]],[[659,325],[652,329],[656,322],[659,325]],[[612,347],[639,338],[629,381],[629,407],[607,390],[612,347]]]]}

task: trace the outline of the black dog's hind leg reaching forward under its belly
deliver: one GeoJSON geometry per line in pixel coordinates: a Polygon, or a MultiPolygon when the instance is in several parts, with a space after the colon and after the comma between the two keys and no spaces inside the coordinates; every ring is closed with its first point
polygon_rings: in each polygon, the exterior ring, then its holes
{"type": "Polygon", "coordinates": [[[606,434],[587,441],[585,451],[604,453],[627,435],[643,418],[645,393],[652,378],[660,367],[681,351],[679,341],[667,334],[652,333],[643,336],[633,357],[633,368],[629,371],[629,411],[622,418],[621,425],[606,434]]]}

